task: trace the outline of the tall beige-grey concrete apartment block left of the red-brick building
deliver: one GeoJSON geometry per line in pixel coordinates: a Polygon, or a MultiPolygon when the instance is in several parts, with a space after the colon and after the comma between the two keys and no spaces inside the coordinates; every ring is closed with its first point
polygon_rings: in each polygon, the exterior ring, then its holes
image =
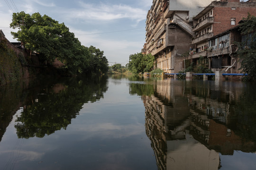
{"type": "Polygon", "coordinates": [[[211,0],[153,0],[146,18],[146,53],[157,68],[175,73],[184,68],[183,53],[192,42],[192,18],[211,0]]]}

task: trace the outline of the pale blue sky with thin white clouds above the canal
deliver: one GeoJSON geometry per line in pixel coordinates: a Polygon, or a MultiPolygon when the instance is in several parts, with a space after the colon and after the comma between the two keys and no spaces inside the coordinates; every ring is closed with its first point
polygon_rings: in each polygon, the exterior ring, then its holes
{"type": "Polygon", "coordinates": [[[109,65],[125,65],[143,48],[151,5],[152,0],[0,0],[0,29],[17,42],[10,34],[12,13],[39,12],[64,23],[82,45],[104,51],[109,65]]]}

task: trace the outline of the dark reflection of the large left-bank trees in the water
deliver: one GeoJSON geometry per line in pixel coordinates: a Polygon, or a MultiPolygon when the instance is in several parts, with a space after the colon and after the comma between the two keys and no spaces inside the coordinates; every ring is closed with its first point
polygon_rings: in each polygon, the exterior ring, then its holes
{"type": "Polygon", "coordinates": [[[19,138],[44,137],[71,124],[84,103],[95,102],[107,91],[106,77],[73,78],[57,90],[44,87],[33,102],[28,103],[16,120],[19,138]]]}

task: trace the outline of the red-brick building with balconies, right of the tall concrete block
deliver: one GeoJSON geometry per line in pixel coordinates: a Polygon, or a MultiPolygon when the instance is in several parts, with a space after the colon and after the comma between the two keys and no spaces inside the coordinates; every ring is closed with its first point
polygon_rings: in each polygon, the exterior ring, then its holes
{"type": "Polygon", "coordinates": [[[241,41],[238,25],[248,13],[256,16],[256,0],[212,1],[193,18],[193,50],[189,59],[196,64],[200,57],[208,57],[213,71],[238,73],[240,64],[234,55],[234,42],[241,41]]]}

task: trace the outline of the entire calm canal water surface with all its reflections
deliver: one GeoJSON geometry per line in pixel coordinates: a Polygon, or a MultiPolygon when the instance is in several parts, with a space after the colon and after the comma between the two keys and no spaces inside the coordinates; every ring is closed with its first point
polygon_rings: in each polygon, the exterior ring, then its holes
{"type": "Polygon", "coordinates": [[[256,88],[134,76],[0,88],[0,170],[255,170],[256,88]]]}

